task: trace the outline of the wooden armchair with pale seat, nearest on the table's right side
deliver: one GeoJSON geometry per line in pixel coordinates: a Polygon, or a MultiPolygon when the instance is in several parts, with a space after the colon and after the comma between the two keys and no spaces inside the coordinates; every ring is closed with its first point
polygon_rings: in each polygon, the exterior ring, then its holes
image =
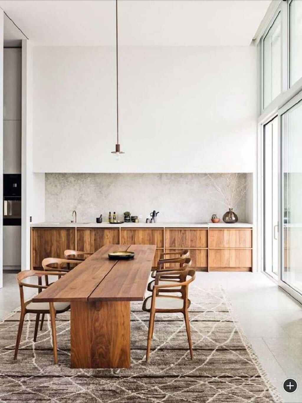
{"type": "Polygon", "coordinates": [[[153,337],[153,329],[154,329],[154,320],[156,313],[178,313],[181,312],[184,315],[184,320],[186,323],[186,332],[188,336],[188,343],[190,348],[190,356],[193,359],[193,349],[192,349],[192,340],[191,340],[191,332],[190,332],[190,321],[188,316],[188,307],[190,306],[191,301],[188,299],[188,285],[195,279],[195,270],[177,270],[174,272],[170,272],[170,274],[174,274],[180,276],[180,282],[172,285],[171,283],[161,283],[162,272],[157,272],[155,277],[155,285],[153,287],[152,296],[147,297],[143,302],[143,311],[150,312],[149,318],[149,330],[148,330],[148,342],[147,342],[147,353],[146,353],[146,361],[149,360],[150,349],[151,349],[151,339],[153,337]],[[187,276],[190,276],[188,280],[186,280],[187,276]],[[181,297],[177,297],[175,295],[159,295],[157,290],[159,289],[170,289],[173,287],[181,287],[181,297]]]}

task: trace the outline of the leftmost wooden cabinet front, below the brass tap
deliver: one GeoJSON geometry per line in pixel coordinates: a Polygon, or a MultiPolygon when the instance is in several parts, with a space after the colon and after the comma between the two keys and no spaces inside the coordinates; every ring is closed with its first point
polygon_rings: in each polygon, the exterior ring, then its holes
{"type": "Polygon", "coordinates": [[[64,258],[64,250],[75,248],[74,228],[33,228],[32,267],[42,267],[45,258],[64,258]]]}

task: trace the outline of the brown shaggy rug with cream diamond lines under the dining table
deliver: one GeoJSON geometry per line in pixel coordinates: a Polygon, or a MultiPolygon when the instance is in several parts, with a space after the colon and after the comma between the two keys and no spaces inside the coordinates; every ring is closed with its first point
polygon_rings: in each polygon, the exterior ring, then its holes
{"type": "Polygon", "coordinates": [[[0,323],[1,402],[281,402],[248,345],[221,289],[190,289],[194,360],[182,315],[158,314],[145,362],[149,314],[132,304],[131,368],[70,369],[69,313],[58,314],[59,364],[53,364],[49,320],[33,342],[35,317],[27,315],[13,360],[19,313],[0,323]]]}

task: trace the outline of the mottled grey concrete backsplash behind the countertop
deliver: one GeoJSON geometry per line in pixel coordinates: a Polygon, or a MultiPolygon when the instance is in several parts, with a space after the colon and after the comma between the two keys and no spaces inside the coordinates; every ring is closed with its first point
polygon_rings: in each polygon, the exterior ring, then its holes
{"type": "Polygon", "coordinates": [[[239,221],[247,220],[245,192],[247,174],[45,174],[46,221],[66,222],[77,210],[78,222],[95,222],[115,211],[122,220],[124,211],[141,216],[145,222],[153,210],[158,222],[208,222],[212,214],[222,220],[228,210],[225,197],[233,195],[239,221]],[[236,199],[243,196],[236,203],[236,199]]]}

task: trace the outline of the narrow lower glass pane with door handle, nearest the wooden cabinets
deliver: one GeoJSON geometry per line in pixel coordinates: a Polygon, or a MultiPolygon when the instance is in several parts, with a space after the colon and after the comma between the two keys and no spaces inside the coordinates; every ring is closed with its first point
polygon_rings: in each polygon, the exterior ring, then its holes
{"type": "Polygon", "coordinates": [[[278,275],[278,119],[264,127],[264,270],[278,275]]]}

